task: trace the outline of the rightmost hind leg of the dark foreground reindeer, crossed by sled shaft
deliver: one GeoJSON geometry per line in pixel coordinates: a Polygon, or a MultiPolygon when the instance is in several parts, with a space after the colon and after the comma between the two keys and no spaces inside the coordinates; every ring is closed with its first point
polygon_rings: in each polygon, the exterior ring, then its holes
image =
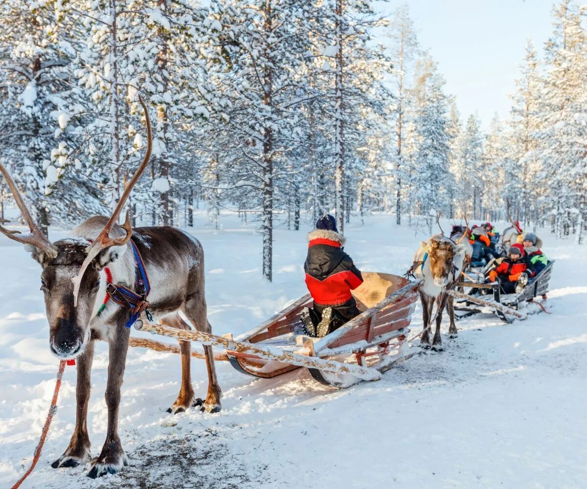
{"type": "MultiPolygon", "coordinates": [[[[203,294],[194,294],[191,296],[185,302],[184,313],[194,325],[196,331],[203,331],[205,333],[212,332],[212,326],[210,326],[207,319],[206,299],[203,294]]],[[[206,400],[202,404],[201,411],[218,413],[221,410],[220,397],[222,396],[222,391],[220,390],[220,386],[218,386],[214,355],[210,345],[204,345],[204,355],[206,356],[206,367],[208,369],[208,392],[206,394],[206,400]]]]}

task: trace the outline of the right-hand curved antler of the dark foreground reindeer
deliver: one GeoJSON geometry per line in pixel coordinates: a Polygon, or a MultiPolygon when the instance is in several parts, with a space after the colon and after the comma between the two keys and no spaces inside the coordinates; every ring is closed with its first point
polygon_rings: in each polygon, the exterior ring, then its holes
{"type": "Polygon", "coordinates": [[[141,106],[143,106],[143,110],[145,113],[145,120],[147,123],[147,152],[145,153],[145,156],[143,158],[143,163],[141,163],[139,168],[137,168],[137,171],[134,173],[133,178],[131,178],[131,180],[128,184],[125,183],[124,191],[123,191],[122,195],[120,196],[120,200],[118,201],[118,204],[116,204],[116,208],[114,209],[112,215],[110,216],[110,219],[108,220],[108,222],[106,222],[104,229],[102,230],[102,232],[100,232],[100,234],[98,235],[96,240],[94,240],[92,245],[87,250],[87,256],[86,256],[86,259],[82,263],[82,268],[80,268],[79,273],[74,278],[72,278],[72,281],[73,281],[73,303],[75,306],[77,306],[77,294],[79,294],[79,287],[80,287],[80,284],[82,283],[83,274],[86,271],[86,268],[88,267],[90,262],[92,262],[92,260],[97,257],[97,255],[100,253],[100,251],[103,251],[104,249],[107,249],[107,248],[110,248],[113,246],[122,246],[122,245],[127,244],[127,242],[129,242],[130,238],[133,235],[133,228],[130,225],[129,211],[127,210],[126,211],[126,220],[124,221],[124,224],[122,225],[122,227],[126,231],[126,235],[123,237],[120,237],[120,238],[110,238],[110,236],[109,236],[110,231],[112,231],[112,227],[114,226],[114,224],[118,220],[118,217],[120,215],[120,211],[122,211],[122,208],[124,207],[124,204],[126,203],[126,200],[129,198],[130,191],[133,190],[134,184],[137,183],[137,180],[139,180],[141,174],[143,174],[143,171],[147,167],[147,163],[149,163],[149,158],[151,157],[151,150],[153,149],[153,134],[151,134],[151,120],[149,119],[149,110],[147,110],[147,106],[143,102],[143,97],[141,97],[140,95],[139,95],[139,102],[141,103],[141,106]]]}

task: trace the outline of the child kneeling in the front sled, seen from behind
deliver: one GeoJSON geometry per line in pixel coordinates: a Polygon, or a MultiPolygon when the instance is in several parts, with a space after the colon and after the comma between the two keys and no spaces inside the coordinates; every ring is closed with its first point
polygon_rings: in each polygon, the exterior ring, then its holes
{"type": "Polygon", "coordinates": [[[343,251],[345,238],[338,233],[332,215],[316,222],[308,241],[303,269],[314,303],[312,308],[303,308],[301,316],[306,333],[322,338],[360,314],[350,291],[363,283],[363,277],[343,251]]]}

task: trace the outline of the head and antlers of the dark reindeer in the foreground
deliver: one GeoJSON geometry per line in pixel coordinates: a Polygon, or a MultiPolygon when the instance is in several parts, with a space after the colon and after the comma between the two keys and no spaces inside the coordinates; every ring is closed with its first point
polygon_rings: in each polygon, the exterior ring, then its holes
{"type": "MultiPolygon", "coordinates": [[[[133,234],[128,212],[122,227],[117,225],[116,221],[131,189],[147,167],[153,146],[149,113],[141,97],[139,101],[143,106],[147,123],[147,153],[130,183],[124,188],[112,216],[109,219],[93,217],[86,221],[86,224],[95,221],[93,224],[96,224],[96,227],[98,224],[104,226],[92,243],[82,238],[50,242],[26,208],[12,176],[0,163],[0,173],[6,178],[16,205],[31,231],[22,235],[19,231],[11,231],[0,225],[0,232],[11,240],[25,244],[43,268],[41,290],[45,294],[45,309],[49,321],[49,346],[59,358],[75,358],[83,352],[90,337],[89,325],[100,289],[99,270],[122,255],[126,243],[133,234]],[[112,238],[111,232],[114,235],[112,238]]],[[[0,224],[4,222],[8,221],[0,220],[0,224]]]]}

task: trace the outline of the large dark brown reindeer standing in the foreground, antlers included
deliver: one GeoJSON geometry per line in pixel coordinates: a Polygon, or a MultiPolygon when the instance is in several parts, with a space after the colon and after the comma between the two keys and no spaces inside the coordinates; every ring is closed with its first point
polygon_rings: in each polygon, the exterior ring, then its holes
{"type": "MultiPolygon", "coordinates": [[[[122,226],[116,224],[130,191],[149,162],[153,136],[149,113],[143,100],[147,124],[147,151],[143,162],[124,192],[110,218],[90,217],[73,231],[74,237],[54,243],[39,230],[23,203],[21,194],[8,170],[0,163],[22,217],[30,233],[21,235],[0,226],[0,231],[21,242],[31,251],[42,267],[41,290],[49,321],[49,348],[59,359],[77,359],[76,423],[69,446],[53,464],[53,468],[75,467],[90,458],[87,432],[87,407],[90,397],[90,370],[97,339],[109,343],[109,365],[106,387],[108,410],[106,441],[89,473],[95,478],[116,473],[127,458],[118,435],[120,387],[122,386],[126,352],[129,346],[129,317],[147,307],[167,326],[190,329],[181,319],[183,312],[198,331],[210,332],[204,295],[204,253],[198,240],[173,227],[143,227],[132,229],[129,213],[122,226]],[[139,252],[152,292],[146,302],[144,284],[137,270],[138,261],[133,247],[139,252]],[[91,266],[90,266],[91,265],[91,266]],[[116,284],[116,286],[114,286],[116,284]],[[143,297],[131,311],[116,302],[117,286],[124,286],[143,297]],[[142,290],[141,290],[142,289],[142,290]],[[107,300],[109,297],[112,300],[107,300]]],[[[1,223],[8,221],[2,220],[1,223]]],[[[120,296],[118,296],[120,299],[120,296]]],[[[221,409],[221,390],[214,366],[211,346],[204,345],[208,369],[208,392],[204,402],[195,399],[190,379],[190,342],[180,341],[181,387],[177,399],[167,410],[179,413],[192,406],[205,412],[221,409]]]]}

